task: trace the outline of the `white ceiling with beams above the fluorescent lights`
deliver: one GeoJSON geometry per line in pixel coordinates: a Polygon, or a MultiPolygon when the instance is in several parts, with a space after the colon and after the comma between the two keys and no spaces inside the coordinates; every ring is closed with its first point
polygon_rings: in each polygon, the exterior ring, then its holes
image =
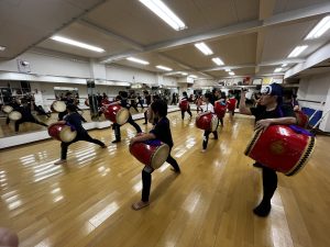
{"type": "MultiPolygon", "coordinates": [[[[108,60],[163,72],[156,65],[198,76],[268,75],[283,63],[294,66],[323,46],[330,32],[318,41],[304,37],[330,13],[329,0],[163,0],[188,26],[174,31],[138,0],[2,0],[0,1],[0,59],[12,59],[34,47],[81,58],[108,60]],[[52,41],[53,34],[102,47],[94,53],[52,41]],[[212,56],[202,55],[195,43],[204,41],[212,56]],[[309,47],[298,59],[292,49],[309,47]],[[150,61],[128,61],[135,56],[150,61]],[[211,61],[220,57],[224,66],[211,61]]],[[[288,69],[288,68],[286,68],[288,69]]]]}

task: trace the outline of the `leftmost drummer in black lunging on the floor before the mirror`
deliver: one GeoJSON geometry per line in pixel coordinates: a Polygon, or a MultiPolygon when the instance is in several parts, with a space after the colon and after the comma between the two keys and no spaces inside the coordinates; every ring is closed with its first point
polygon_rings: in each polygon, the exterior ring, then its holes
{"type": "Polygon", "coordinates": [[[57,160],[54,165],[66,164],[66,156],[67,156],[68,146],[72,145],[73,143],[78,142],[78,141],[86,141],[86,142],[89,142],[89,143],[95,143],[95,144],[98,144],[102,148],[107,147],[106,144],[103,144],[101,141],[92,138],[87,133],[87,131],[82,127],[82,124],[81,124],[82,117],[79,113],[76,112],[76,105],[75,104],[68,104],[66,106],[66,110],[67,110],[68,114],[64,116],[64,120],[58,121],[54,124],[68,124],[68,125],[70,125],[73,128],[76,130],[77,136],[74,141],[72,141],[69,143],[65,143],[65,142],[61,143],[61,159],[57,160]]]}

